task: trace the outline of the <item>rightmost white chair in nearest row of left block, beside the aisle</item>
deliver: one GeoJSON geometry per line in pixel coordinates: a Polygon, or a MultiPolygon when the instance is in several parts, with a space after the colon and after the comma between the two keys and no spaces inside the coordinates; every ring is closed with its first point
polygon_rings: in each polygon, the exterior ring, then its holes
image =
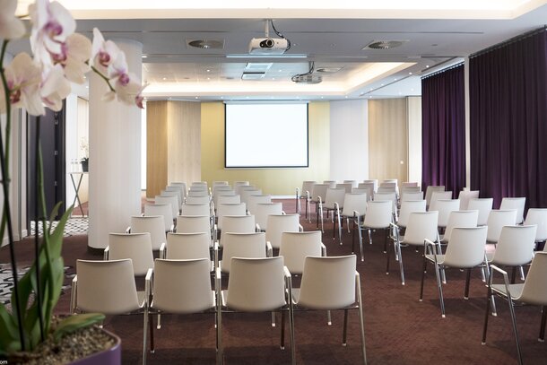
{"type": "Polygon", "coordinates": [[[294,310],[343,309],[343,346],[347,343],[348,309],[357,309],[360,323],[360,350],[362,361],[367,364],[365,327],[363,320],[360,275],[356,256],[307,256],[300,290],[292,293],[294,310]]]}

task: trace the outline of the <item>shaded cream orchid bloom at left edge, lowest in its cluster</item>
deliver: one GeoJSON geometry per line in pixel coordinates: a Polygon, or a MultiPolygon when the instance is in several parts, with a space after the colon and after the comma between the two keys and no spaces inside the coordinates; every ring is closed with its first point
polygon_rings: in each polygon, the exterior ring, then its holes
{"type": "MultiPolygon", "coordinates": [[[[27,109],[30,115],[44,114],[45,110],[39,94],[41,69],[26,53],[20,53],[13,58],[10,65],[4,68],[8,87],[7,102],[15,108],[27,109]]],[[[0,85],[0,110],[5,111],[4,88],[0,85]]]]}

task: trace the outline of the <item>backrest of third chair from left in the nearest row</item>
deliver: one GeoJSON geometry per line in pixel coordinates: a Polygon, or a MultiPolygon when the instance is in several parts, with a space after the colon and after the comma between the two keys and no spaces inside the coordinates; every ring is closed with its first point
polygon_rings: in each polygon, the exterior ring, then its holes
{"type": "Polygon", "coordinates": [[[226,305],[230,309],[264,312],[285,305],[283,257],[231,259],[226,305]]]}

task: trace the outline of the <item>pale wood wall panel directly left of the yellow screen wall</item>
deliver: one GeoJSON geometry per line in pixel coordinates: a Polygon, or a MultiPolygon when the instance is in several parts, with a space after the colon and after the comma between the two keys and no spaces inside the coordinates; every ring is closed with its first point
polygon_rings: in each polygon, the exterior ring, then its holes
{"type": "Polygon", "coordinates": [[[201,180],[201,103],[168,101],[168,182],[201,180]]]}

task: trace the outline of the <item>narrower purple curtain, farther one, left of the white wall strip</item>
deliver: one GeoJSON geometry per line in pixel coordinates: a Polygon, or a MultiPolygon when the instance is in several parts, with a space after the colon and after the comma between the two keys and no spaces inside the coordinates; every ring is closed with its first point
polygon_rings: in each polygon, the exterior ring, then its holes
{"type": "Polygon", "coordinates": [[[465,77],[457,65],[421,80],[421,187],[465,187],[465,77]]]}

